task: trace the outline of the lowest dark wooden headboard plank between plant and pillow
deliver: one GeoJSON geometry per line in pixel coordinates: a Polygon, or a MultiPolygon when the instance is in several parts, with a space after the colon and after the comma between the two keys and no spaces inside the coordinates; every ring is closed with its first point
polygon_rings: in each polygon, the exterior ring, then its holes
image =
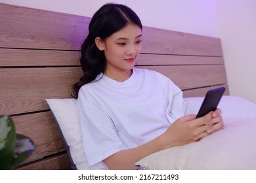
{"type": "Polygon", "coordinates": [[[68,154],[56,155],[51,158],[41,159],[25,165],[20,165],[16,170],[70,170],[68,154]]]}

